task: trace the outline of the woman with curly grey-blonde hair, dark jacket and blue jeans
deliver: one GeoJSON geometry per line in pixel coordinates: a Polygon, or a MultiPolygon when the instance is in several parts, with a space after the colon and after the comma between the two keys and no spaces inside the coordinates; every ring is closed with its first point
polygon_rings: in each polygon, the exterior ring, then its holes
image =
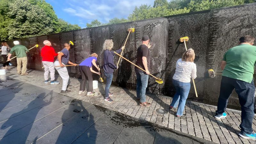
{"type": "MultiPolygon", "coordinates": [[[[109,87],[111,85],[112,82],[112,78],[113,78],[113,72],[114,69],[117,69],[118,67],[114,64],[114,55],[115,53],[111,51],[111,49],[113,48],[113,41],[111,39],[107,39],[105,40],[104,44],[103,44],[103,49],[104,49],[104,74],[107,78],[106,81],[106,87],[105,87],[105,101],[108,102],[112,102],[113,100],[110,99],[109,96],[112,96],[113,93],[109,92],[109,87]]],[[[124,49],[124,46],[122,48],[120,48],[119,50],[116,51],[116,53],[120,53],[122,52],[122,50],[124,49]]]]}

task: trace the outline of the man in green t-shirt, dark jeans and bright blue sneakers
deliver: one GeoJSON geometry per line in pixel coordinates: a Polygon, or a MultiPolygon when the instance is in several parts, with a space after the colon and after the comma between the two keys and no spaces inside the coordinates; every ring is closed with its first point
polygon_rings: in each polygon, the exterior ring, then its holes
{"type": "Polygon", "coordinates": [[[252,46],[253,41],[254,37],[252,36],[242,36],[239,39],[239,45],[224,54],[220,64],[223,72],[215,118],[220,119],[227,116],[225,110],[228,98],[235,89],[242,110],[239,136],[256,140],[255,133],[252,133],[255,96],[253,72],[256,63],[256,46],[252,46]]]}

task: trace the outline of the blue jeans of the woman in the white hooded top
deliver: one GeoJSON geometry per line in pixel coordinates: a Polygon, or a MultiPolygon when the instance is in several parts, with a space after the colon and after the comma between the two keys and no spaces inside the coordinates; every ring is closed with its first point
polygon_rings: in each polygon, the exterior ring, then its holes
{"type": "Polygon", "coordinates": [[[176,93],[172,99],[172,103],[170,106],[173,108],[177,108],[177,105],[179,103],[176,115],[182,116],[190,90],[190,83],[183,83],[174,79],[172,79],[172,83],[176,89],[176,93]]]}

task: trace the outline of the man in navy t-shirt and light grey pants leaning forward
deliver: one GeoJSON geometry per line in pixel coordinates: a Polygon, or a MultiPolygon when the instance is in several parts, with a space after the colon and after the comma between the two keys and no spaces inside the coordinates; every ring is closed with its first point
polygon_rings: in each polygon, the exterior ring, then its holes
{"type": "Polygon", "coordinates": [[[77,65],[69,61],[69,50],[70,50],[70,45],[68,43],[64,43],[64,48],[60,51],[58,54],[58,59],[54,62],[54,67],[58,71],[60,77],[62,78],[62,90],[60,93],[67,93],[71,92],[70,90],[67,90],[68,86],[68,80],[69,80],[69,75],[68,75],[68,69],[65,67],[67,64],[71,65],[77,65]],[[56,67],[60,66],[60,67],[56,67]]]}

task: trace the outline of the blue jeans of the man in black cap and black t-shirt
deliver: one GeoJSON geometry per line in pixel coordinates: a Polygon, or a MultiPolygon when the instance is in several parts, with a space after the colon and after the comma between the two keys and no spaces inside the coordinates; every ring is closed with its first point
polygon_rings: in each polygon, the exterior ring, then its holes
{"type": "Polygon", "coordinates": [[[144,72],[136,71],[137,76],[137,98],[140,98],[140,102],[146,102],[146,88],[148,86],[148,75],[144,72]]]}

